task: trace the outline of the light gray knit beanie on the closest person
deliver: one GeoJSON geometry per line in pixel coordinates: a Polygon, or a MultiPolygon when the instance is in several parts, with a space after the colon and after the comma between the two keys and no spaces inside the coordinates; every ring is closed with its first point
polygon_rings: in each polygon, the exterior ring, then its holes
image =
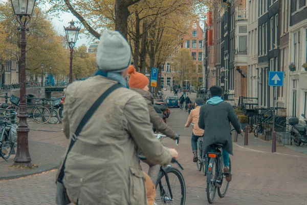
{"type": "Polygon", "coordinates": [[[96,55],[100,70],[121,72],[131,63],[131,49],[127,40],[118,31],[104,30],[100,36],[96,55]]]}

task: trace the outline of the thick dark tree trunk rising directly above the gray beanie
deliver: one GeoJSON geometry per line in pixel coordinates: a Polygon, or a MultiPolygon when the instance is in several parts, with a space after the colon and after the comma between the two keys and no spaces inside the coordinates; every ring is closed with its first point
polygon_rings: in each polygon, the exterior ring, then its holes
{"type": "Polygon", "coordinates": [[[119,31],[126,39],[128,35],[129,5],[125,0],[115,2],[115,30],[119,31]]]}

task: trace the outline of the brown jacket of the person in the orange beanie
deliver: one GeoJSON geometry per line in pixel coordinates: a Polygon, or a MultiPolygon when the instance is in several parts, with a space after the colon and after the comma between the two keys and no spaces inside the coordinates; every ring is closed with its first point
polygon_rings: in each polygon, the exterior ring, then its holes
{"type": "Polygon", "coordinates": [[[152,123],[153,127],[156,128],[158,132],[161,132],[162,134],[165,134],[166,136],[175,140],[177,133],[168,127],[163,119],[159,117],[155,108],[153,108],[150,93],[139,88],[131,88],[131,90],[136,91],[145,98],[149,110],[150,122],[152,123]]]}

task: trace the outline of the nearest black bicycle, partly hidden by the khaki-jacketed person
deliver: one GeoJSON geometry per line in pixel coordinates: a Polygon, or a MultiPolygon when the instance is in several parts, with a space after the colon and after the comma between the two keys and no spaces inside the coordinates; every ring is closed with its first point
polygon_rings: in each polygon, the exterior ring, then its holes
{"type": "MultiPolygon", "coordinates": [[[[161,138],[166,137],[165,135],[162,135],[162,134],[155,134],[155,135],[160,140],[161,140],[161,138]]],[[[176,145],[178,145],[178,141],[179,140],[176,140],[176,145]]],[[[139,155],[139,159],[146,160],[146,157],[139,155]]],[[[176,159],[173,158],[171,160],[171,163],[177,163],[177,165],[180,167],[180,169],[184,170],[183,167],[180,165],[180,163],[176,159]]],[[[172,181],[174,181],[174,180],[172,180],[172,181]]],[[[185,181],[184,181],[182,173],[177,168],[174,168],[171,165],[168,165],[166,167],[161,166],[155,186],[156,186],[156,192],[157,192],[157,196],[156,196],[155,200],[156,200],[157,205],[158,204],[165,204],[165,203],[172,203],[172,201],[175,202],[177,200],[178,200],[178,202],[180,201],[180,205],[185,204],[185,199],[186,199],[185,181]],[[173,194],[176,194],[176,193],[172,192],[172,190],[174,189],[174,186],[170,185],[170,180],[169,180],[170,174],[173,174],[174,177],[177,177],[179,179],[180,190],[181,190],[181,193],[180,193],[179,196],[173,196],[173,194]],[[162,183],[162,181],[163,182],[165,181],[165,183],[162,183]]]]}

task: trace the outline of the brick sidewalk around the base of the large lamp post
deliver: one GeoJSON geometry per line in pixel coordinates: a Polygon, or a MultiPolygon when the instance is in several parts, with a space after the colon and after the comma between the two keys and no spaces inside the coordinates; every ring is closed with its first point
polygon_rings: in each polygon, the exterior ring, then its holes
{"type": "Polygon", "coordinates": [[[8,161],[0,158],[0,180],[19,178],[56,169],[65,153],[66,145],[67,139],[62,133],[30,131],[29,152],[33,169],[12,166],[15,155],[11,155],[8,161]]]}

